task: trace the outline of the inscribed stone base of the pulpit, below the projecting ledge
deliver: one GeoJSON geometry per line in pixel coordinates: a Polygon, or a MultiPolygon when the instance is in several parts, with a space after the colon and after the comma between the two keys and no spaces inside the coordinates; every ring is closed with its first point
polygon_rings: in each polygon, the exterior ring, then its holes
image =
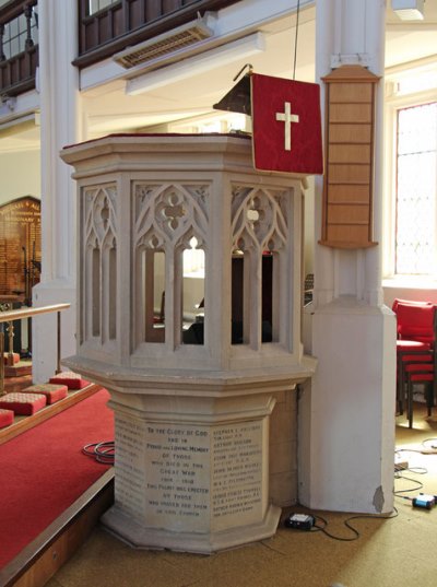
{"type": "Polygon", "coordinates": [[[113,533],[137,548],[204,554],[275,533],[281,508],[269,496],[272,394],[110,391],[115,505],[103,524],[113,533]]]}

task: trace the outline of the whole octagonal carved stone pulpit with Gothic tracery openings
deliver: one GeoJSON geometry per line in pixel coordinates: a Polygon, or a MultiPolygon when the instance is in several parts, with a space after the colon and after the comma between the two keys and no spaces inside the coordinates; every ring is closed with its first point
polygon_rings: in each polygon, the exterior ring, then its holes
{"type": "Polygon", "coordinates": [[[78,345],[106,387],[115,504],[138,548],[210,553],[274,535],[297,498],[303,176],[233,136],[66,148],[78,180],[78,345]]]}

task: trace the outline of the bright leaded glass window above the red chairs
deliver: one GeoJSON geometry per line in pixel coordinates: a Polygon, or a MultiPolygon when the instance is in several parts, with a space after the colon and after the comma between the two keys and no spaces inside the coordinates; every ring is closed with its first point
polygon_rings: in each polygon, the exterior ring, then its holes
{"type": "Polygon", "coordinates": [[[395,273],[436,273],[437,103],[398,111],[395,273]]]}

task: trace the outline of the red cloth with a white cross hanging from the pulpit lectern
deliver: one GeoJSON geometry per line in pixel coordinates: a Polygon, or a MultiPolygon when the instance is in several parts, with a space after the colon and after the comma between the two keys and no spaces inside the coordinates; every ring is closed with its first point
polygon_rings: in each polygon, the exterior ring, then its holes
{"type": "Polygon", "coordinates": [[[319,85],[258,73],[250,80],[255,167],[322,174],[319,85]]]}

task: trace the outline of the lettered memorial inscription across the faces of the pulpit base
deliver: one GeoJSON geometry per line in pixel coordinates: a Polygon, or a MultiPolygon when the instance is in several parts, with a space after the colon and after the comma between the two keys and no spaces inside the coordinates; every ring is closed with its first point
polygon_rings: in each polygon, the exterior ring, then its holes
{"type": "Polygon", "coordinates": [[[116,502],[149,528],[208,532],[260,521],[263,421],[226,426],[117,414],[116,502]]]}

